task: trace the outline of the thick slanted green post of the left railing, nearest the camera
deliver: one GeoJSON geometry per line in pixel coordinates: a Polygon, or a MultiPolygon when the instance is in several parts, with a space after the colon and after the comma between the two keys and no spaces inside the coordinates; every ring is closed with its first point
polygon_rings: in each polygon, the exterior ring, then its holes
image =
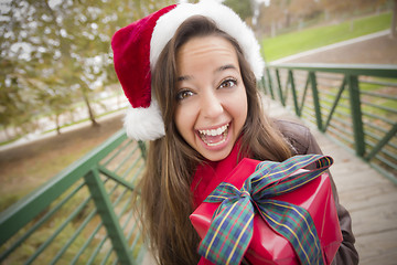
{"type": "Polygon", "coordinates": [[[119,221],[112,209],[110,199],[106,192],[104,182],[99,178],[97,169],[93,169],[86,176],[85,181],[88,186],[92,198],[97,208],[107,234],[111,241],[116,255],[120,264],[133,264],[133,258],[128,247],[128,243],[120,227],[119,221]]]}

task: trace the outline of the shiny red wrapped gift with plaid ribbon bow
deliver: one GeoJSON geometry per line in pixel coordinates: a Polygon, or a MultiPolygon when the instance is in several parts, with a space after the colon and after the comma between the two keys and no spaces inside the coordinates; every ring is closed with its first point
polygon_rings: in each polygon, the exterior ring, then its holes
{"type": "Polygon", "coordinates": [[[215,264],[243,257],[250,264],[331,264],[342,242],[324,172],[331,165],[320,155],[281,163],[242,160],[190,216],[202,237],[198,253],[215,264]]]}

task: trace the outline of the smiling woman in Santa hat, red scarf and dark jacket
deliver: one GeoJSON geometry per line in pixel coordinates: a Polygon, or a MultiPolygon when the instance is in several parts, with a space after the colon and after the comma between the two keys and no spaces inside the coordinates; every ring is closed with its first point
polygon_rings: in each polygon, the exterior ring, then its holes
{"type": "MultiPolygon", "coordinates": [[[[152,140],[141,212],[161,264],[198,262],[189,215],[244,157],[283,161],[321,153],[305,127],[264,115],[256,88],[264,67],[259,45],[230,9],[168,7],[117,32],[112,49],[133,107],[127,134],[152,140]]],[[[334,262],[355,264],[350,215],[334,184],[333,191],[344,235],[334,262]]]]}

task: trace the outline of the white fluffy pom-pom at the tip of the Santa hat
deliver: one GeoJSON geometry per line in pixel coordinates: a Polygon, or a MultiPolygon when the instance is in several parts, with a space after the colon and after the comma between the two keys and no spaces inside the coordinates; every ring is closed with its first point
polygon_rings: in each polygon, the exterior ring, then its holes
{"type": "Polygon", "coordinates": [[[153,98],[148,108],[129,107],[124,126],[127,136],[136,140],[155,140],[165,135],[164,123],[153,98]]]}

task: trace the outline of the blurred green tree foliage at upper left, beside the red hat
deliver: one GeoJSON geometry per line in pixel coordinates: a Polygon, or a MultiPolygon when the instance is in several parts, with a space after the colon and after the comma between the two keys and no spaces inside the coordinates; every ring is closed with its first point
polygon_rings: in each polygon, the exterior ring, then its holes
{"type": "Polygon", "coordinates": [[[29,131],[33,116],[52,114],[57,120],[73,102],[83,98],[89,109],[95,88],[117,82],[110,49],[112,34],[170,3],[169,0],[20,0],[2,3],[2,127],[23,126],[29,131]]]}

